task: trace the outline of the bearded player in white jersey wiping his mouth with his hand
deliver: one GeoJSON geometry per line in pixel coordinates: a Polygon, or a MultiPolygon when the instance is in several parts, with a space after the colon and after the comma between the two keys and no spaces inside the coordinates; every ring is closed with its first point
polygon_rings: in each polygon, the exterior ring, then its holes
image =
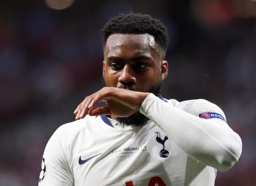
{"type": "Polygon", "coordinates": [[[121,14],[102,40],[106,87],[52,135],[39,185],[214,185],[217,170],[238,161],[242,142],[217,105],[160,95],[168,70],[164,25],[121,14]],[[95,107],[100,101],[107,106],[95,107]]]}

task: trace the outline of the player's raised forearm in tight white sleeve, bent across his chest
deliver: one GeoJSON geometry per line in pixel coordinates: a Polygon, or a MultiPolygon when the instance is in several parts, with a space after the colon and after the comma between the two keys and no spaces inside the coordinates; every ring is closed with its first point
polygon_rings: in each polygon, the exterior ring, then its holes
{"type": "Polygon", "coordinates": [[[236,139],[240,141],[231,140],[230,136],[236,133],[228,126],[177,109],[153,94],[144,100],[140,112],[163,129],[190,157],[204,165],[226,171],[240,157],[241,139],[238,136],[236,139]]]}

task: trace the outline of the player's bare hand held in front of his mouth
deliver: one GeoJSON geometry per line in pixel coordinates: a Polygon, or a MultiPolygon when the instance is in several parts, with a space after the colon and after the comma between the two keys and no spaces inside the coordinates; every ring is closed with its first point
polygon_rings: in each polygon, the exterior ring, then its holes
{"type": "Polygon", "coordinates": [[[76,114],[76,120],[84,118],[88,111],[90,116],[128,117],[140,110],[140,105],[149,94],[115,87],[104,87],[86,97],[78,105],[74,114],[76,114]],[[100,101],[106,101],[107,106],[93,108],[100,101]]]}

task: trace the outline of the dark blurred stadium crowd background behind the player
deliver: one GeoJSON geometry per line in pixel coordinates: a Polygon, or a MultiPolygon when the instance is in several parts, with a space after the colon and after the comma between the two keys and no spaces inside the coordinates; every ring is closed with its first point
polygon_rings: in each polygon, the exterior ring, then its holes
{"type": "Polygon", "coordinates": [[[0,185],[37,185],[44,147],[100,89],[100,32],[147,13],[170,34],[162,95],[219,105],[243,152],[216,184],[256,185],[256,1],[0,1],[0,185]]]}

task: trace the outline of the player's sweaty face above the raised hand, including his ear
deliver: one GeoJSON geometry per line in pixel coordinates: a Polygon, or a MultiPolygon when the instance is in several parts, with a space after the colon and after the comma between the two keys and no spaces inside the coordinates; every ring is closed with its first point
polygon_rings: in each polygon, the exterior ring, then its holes
{"type": "Polygon", "coordinates": [[[167,62],[149,34],[112,34],[104,48],[107,86],[150,92],[167,75],[167,62]]]}

